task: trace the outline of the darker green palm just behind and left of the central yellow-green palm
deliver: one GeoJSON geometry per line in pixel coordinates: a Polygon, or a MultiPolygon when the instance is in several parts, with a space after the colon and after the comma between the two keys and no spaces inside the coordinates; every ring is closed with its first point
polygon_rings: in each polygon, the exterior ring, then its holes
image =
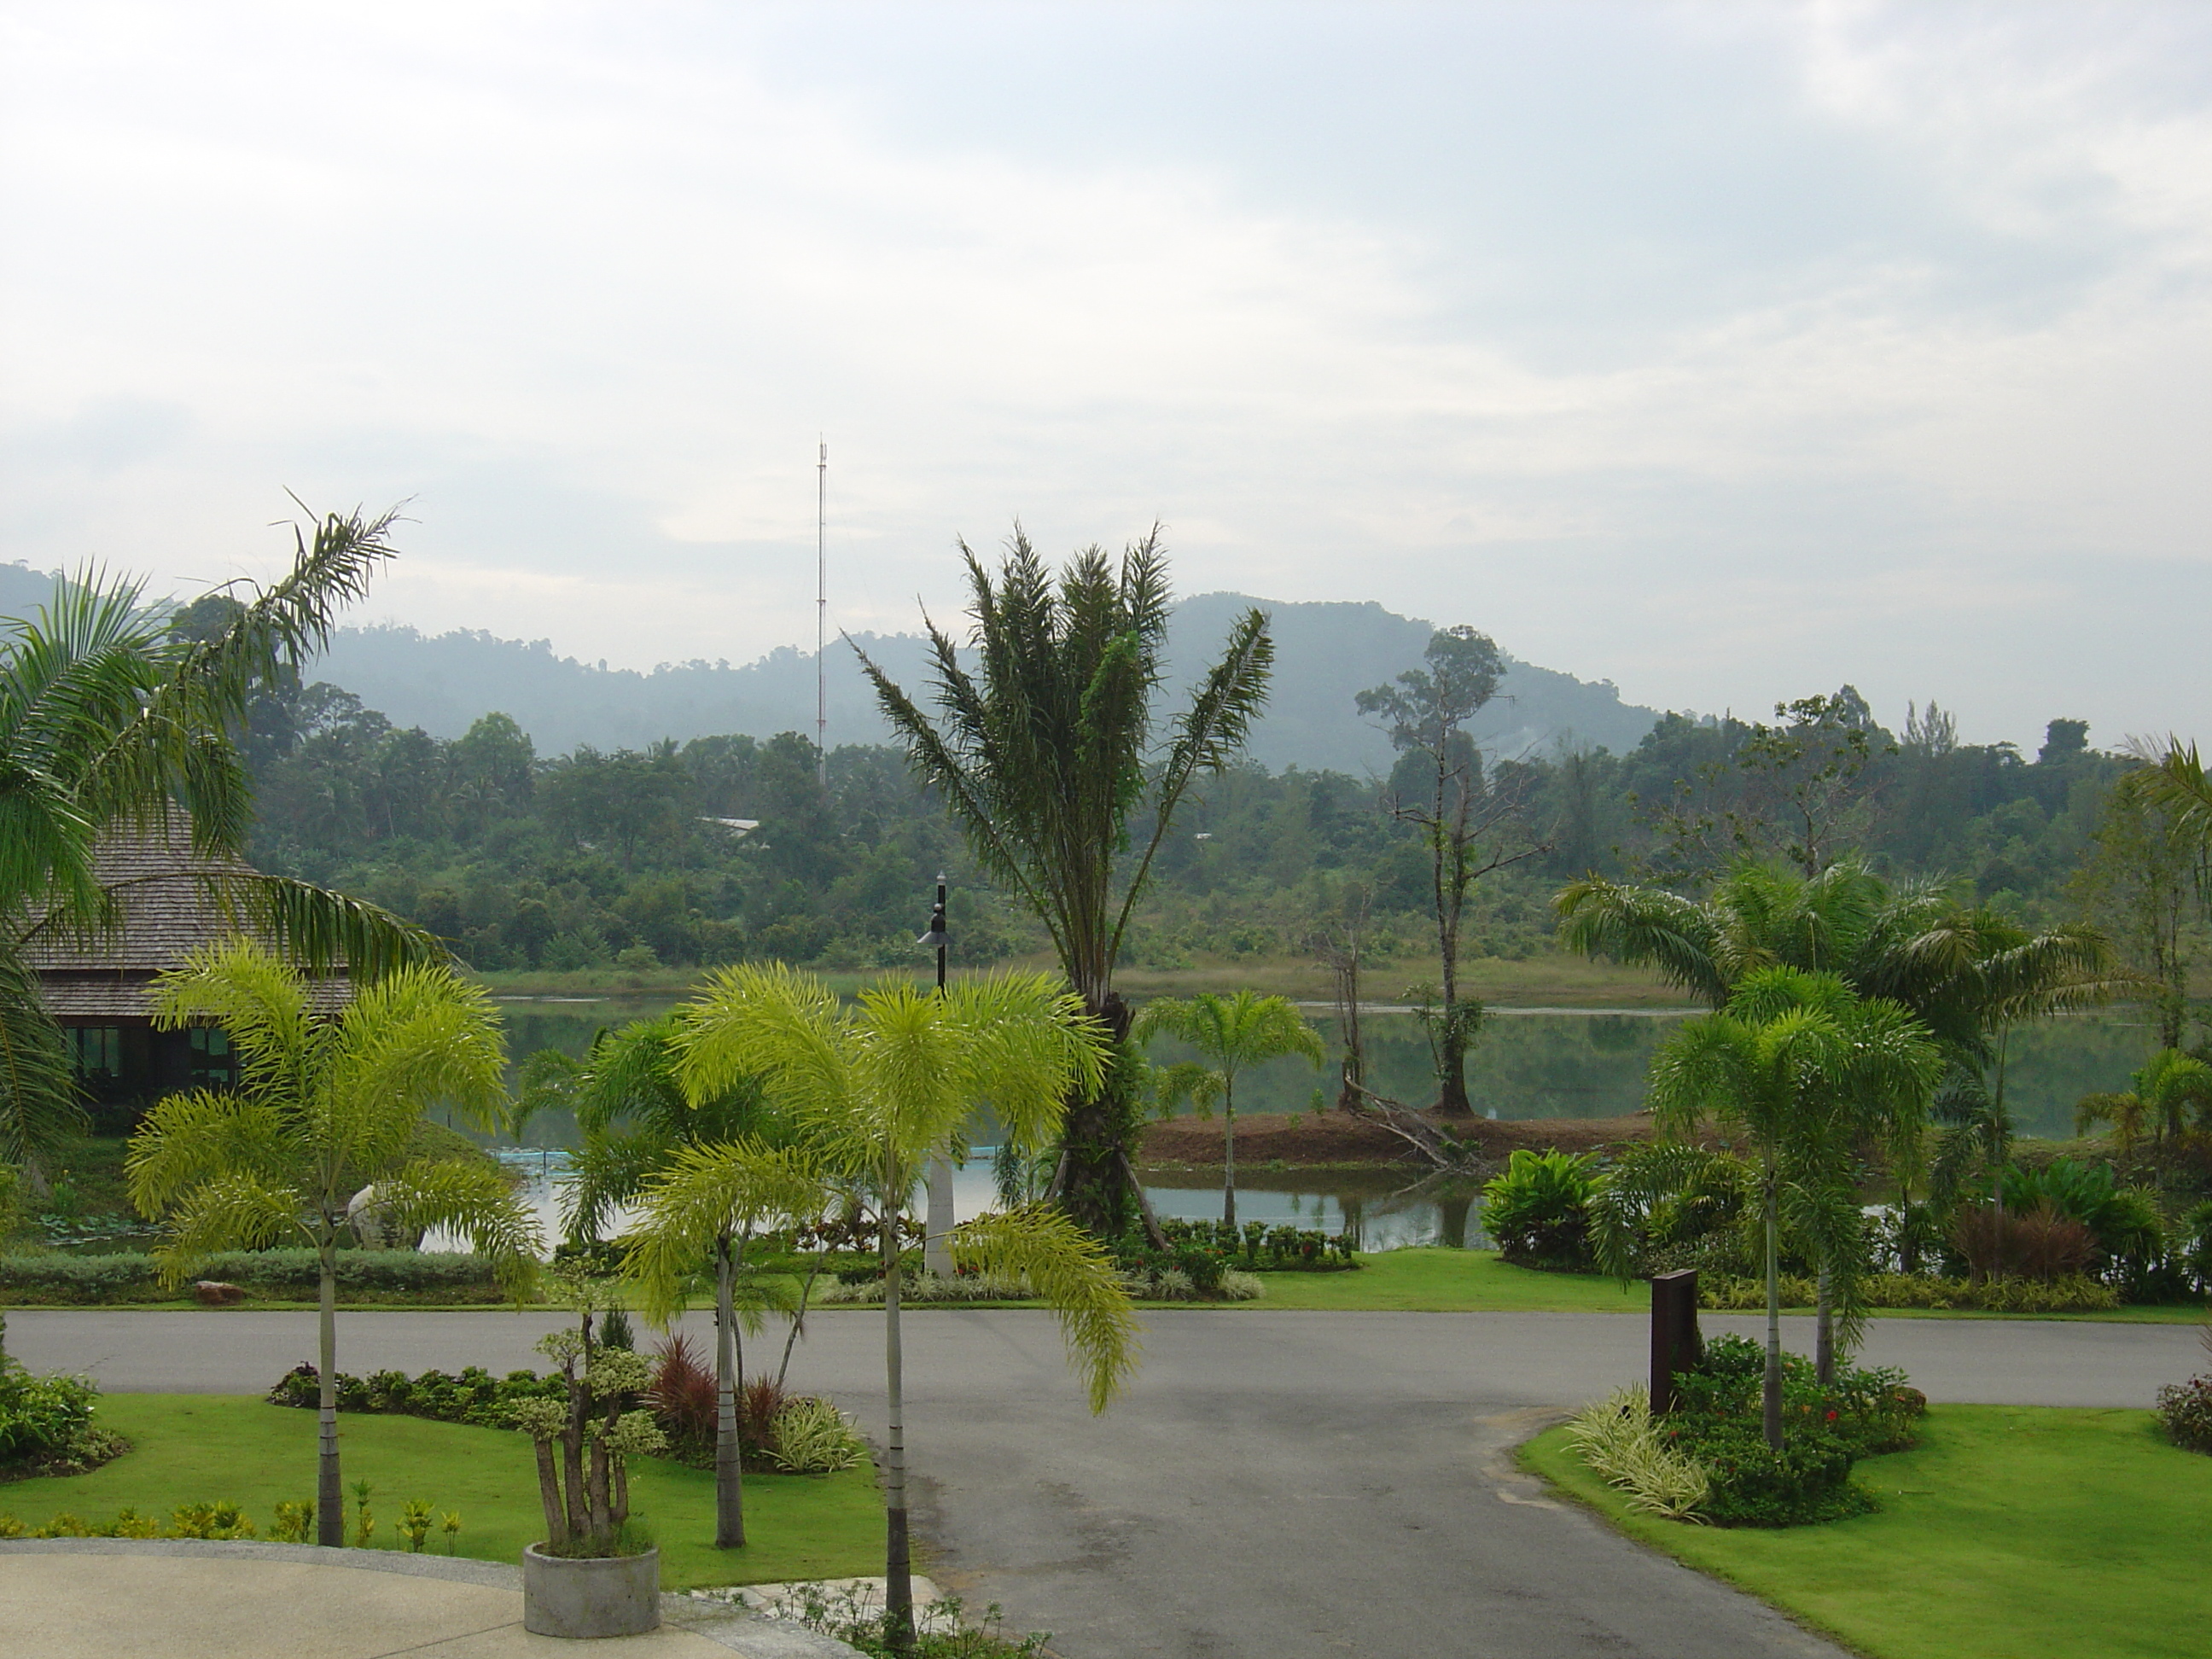
{"type": "MultiPolygon", "coordinates": [[[[549,1106],[568,1106],[582,1137],[562,1192],[571,1239],[599,1239],[615,1210],[637,1199],[648,1179],[677,1168],[679,1155],[690,1148],[790,1139],[787,1119],[761,1099],[752,1077],[737,1077],[730,1088],[692,1106],[675,1075],[679,1033],[679,1015],[635,1020],[619,1031],[602,1031],[584,1060],[542,1048],[524,1064],[515,1126],[549,1106]]],[[[714,1263],[714,1548],[745,1544],[745,1469],[737,1438],[745,1358],[737,1279],[757,1221],[743,1206],[732,1208],[692,1259],[692,1265],[714,1263]]],[[[759,1307],[748,1305],[745,1314],[757,1332],[759,1307]]]]}

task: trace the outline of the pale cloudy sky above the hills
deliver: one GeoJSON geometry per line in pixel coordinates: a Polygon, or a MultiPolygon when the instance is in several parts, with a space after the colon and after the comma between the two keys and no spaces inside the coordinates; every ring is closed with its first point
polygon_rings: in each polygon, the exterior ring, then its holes
{"type": "MultiPolygon", "coordinates": [[[[0,0],[0,560],[615,666],[1166,526],[1663,708],[2212,692],[2212,7],[0,0]]],[[[2201,730],[2212,739],[2212,730],[2201,730]]]]}

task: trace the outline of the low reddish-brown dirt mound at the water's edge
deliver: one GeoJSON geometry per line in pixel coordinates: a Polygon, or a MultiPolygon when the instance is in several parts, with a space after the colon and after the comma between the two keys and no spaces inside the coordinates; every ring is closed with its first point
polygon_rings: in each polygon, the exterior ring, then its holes
{"type": "MultiPolygon", "coordinates": [[[[1504,1159],[1520,1148],[1588,1152],[1615,1141],[1646,1141],[1652,1119],[1635,1117],[1531,1117],[1506,1124],[1491,1117],[1438,1117],[1462,1141],[1482,1146],[1484,1159],[1504,1159]]],[[[1144,1130],[1141,1164],[1221,1166],[1221,1119],[1177,1117],[1144,1130]]],[[[1294,1168],[1420,1168],[1422,1159],[1380,1124],[1352,1113],[1256,1113],[1237,1119],[1237,1166],[1285,1164],[1294,1168]]]]}

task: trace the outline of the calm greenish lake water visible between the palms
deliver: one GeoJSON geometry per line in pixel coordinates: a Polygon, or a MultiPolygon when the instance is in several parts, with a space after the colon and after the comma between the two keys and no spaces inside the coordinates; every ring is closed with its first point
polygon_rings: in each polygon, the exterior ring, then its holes
{"type": "MultiPolygon", "coordinates": [[[[602,1026],[659,1013],[668,1000],[518,1000],[504,1006],[509,1051],[520,1060],[535,1048],[580,1055],[602,1026]]],[[[1336,1020],[1318,1009],[1310,1013],[1334,1044],[1336,1020]]],[[[1502,1119],[1632,1113],[1644,1104],[1644,1073],[1652,1051],[1688,1013],[1692,1011],[1493,1011],[1467,1066],[1475,1110],[1502,1119]]],[[[1413,1018],[1371,1013],[1363,1026],[1369,1086],[1409,1104],[1425,1102],[1429,1046],[1413,1018]]],[[[2143,1064],[2154,1042],[2154,1029],[2132,1011],[2073,1015],[2015,1031],[2006,1044],[2004,1093],[2020,1130],[2070,1135],[2075,1102],[2088,1093],[2126,1088],[2128,1073],[2143,1064]]],[[[1188,1055],[1172,1044],[1159,1044],[1155,1057],[1166,1062],[1188,1055]]],[[[1327,1073],[1316,1073],[1303,1060],[1281,1060],[1239,1079],[1237,1110],[1310,1110],[1316,1088],[1327,1082],[1327,1073]]],[[[560,1148],[573,1139],[573,1121],[564,1115],[544,1115],[524,1133],[526,1146],[509,1152],[533,1166],[533,1175],[540,1177],[533,1186],[546,1206],[551,1206],[551,1183],[560,1177],[560,1148]]],[[[989,1139],[984,1126],[978,1126],[978,1139],[989,1139]]],[[[1146,1194],[1161,1217],[1221,1214],[1219,1186],[1146,1188],[1146,1194]]],[[[962,1170],[953,1197],[962,1219],[989,1208],[989,1168],[978,1161],[962,1170]]],[[[1484,1243],[1480,1206],[1471,1190],[1442,1190],[1436,1183],[1407,1188],[1405,1177],[1389,1172],[1296,1179],[1296,1186],[1263,1170],[1243,1172],[1237,1186],[1237,1217],[1325,1232],[1349,1228],[1365,1250],[1484,1243]]]]}

